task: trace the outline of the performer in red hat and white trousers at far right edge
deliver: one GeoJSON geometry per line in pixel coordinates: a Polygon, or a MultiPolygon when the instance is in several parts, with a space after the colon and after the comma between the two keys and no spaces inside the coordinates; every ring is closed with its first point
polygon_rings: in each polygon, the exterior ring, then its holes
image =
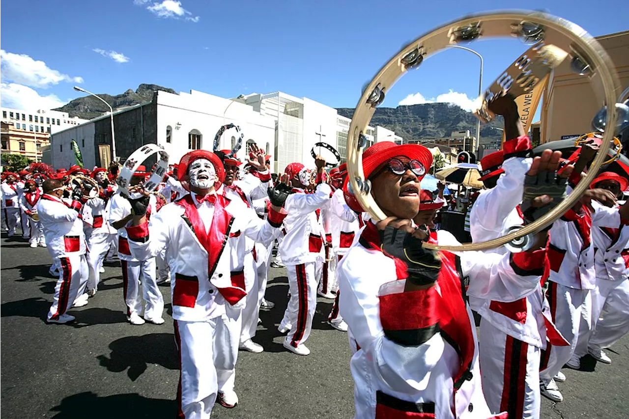
{"type": "MultiPolygon", "coordinates": [[[[618,199],[628,187],[627,179],[614,172],[603,172],[590,184],[591,189],[606,189],[618,199]]],[[[595,211],[608,211],[594,202],[593,207],[595,211]]],[[[596,269],[596,286],[590,293],[592,324],[591,328],[579,330],[574,355],[566,363],[569,367],[579,367],[586,353],[599,362],[610,364],[611,359],[603,349],[629,332],[629,226],[624,220],[616,228],[595,226],[592,243],[596,269]]],[[[581,325],[586,325],[586,321],[581,321],[581,325]]]]}

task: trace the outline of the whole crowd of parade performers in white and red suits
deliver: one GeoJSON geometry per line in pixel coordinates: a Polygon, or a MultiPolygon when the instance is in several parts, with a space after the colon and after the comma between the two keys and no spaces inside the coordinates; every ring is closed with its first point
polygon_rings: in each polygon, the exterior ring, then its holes
{"type": "MultiPolygon", "coordinates": [[[[496,99],[506,141],[481,160],[485,189],[470,214],[474,242],[501,237],[555,208],[587,172],[591,144],[569,158],[533,156],[511,98],[496,99]]],[[[365,178],[387,215],[376,222],[348,190],[347,168],[295,162],[277,178],[264,150],[245,162],[230,150],[194,150],[164,177],[159,194],[131,199],[117,166],[89,172],[4,173],[9,237],[21,221],[31,247],[47,247],[58,275],[50,323],[98,289],[103,261],[117,253],[127,318],[164,323],[157,286],[170,281],[181,375],[178,417],[209,418],[214,403],[238,404],[238,350],[254,342],[274,243],[290,299],[279,323],[284,347],[308,355],[318,295],[333,298],[330,324],[347,332],[357,418],[538,418],[540,397],[562,401],[564,364],[583,355],[610,363],[603,349],[629,330],[629,182],[602,172],[525,252],[433,252],[457,244],[435,230],[444,202],[420,181],[431,167],[420,145],[378,142],[364,151],[365,178]],[[75,186],[72,176],[99,186],[75,186]],[[37,216],[33,218],[33,215],[37,216]],[[281,261],[280,261],[281,259],[281,261]],[[472,310],[480,315],[477,337],[472,310]]]]}

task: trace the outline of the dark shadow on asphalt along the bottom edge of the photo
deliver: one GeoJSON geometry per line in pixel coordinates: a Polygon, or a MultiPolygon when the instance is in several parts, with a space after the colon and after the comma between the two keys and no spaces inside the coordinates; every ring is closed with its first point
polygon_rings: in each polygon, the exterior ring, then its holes
{"type": "Polygon", "coordinates": [[[53,419],[91,418],[174,418],[175,400],[150,399],[137,393],[99,397],[91,391],[64,398],[50,411],[58,412],[53,419]],[[131,415],[131,413],[133,413],[131,415]]]}

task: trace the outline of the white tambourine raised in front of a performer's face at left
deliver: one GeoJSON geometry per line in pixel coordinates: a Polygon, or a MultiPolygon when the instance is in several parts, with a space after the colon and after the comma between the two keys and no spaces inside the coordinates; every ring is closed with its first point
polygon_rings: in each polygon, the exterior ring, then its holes
{"type": "Polygon", "coordinates": [[[143,187],[147,192],[154,192],[157,187],[159,187],[160,182],[164,178],[164,174],[168,170],[168,153],[164,151],[164,148],[160,147],[157,144],[145,144],[142,147],[138,148],[129,156],[128,159],[125,160],[125,163],[120,168],[120,172],[118,172],[118,179],[116,179],[116,184],[120,187],[120,193],[125,194],[131,199],[142,198],[142,194],[140,193],[129,193],[129,187],[131,183],[131,177],[133,174],[138,171],[138,168],[152,155],[157,154],[157,164],[153,167],[153,172],[146,182],[144,182],[143,187]]]}

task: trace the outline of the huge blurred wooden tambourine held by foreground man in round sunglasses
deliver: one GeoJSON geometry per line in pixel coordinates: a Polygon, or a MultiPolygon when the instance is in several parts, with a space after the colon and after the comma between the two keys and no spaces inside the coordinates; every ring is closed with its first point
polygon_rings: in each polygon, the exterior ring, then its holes
{"type": "MultiPolygon", "coordinates": [[[[509,66],[509,69],[498,78],[501,91],[513,94],[526,92],[535,86],[536,78],[543,79],[543,75],[555,68],[558,62],[571,59],[573,67],[581,66],[583,71],[579,72],[579,75],[587,77],[593,84],[594,92],[601,104],[616,103],[620,84],[612,70],[613,62],[598,41],[574,23],[545,13],[508,11],[477,14],[443,25],[409,43],[389,60],[365,87],[352,116],[347,139],[349,182],[352,191],[356,191],[355,197],[360,205],[369,212],[372,218],[384,220],[386,216],[371,196],[370,181],[365,179],[362,170],[362,150],[367,143],[363,133],[367,130],[377,106],[384,101],[386,93],[406,71],[420,67],[424,59],[446,49],[449,45],[501,36],[517,36],[526,43],[535,42],[535,47],[537,47],[531,56],[527,55],[523,60],[520,57],[516,60],[518,63],[516,67],[509,66]],[[526,62],[526,59],[530,61],[526,62]],[[507,80],[509,77],[513,80],[507,80]]],[[[477,112],[477,115],[481,120],[491,119],[491,113],[486,112],[487,105],[484,108],[484,115],[481,114],[482,103],[491,101],[496,94],[496,89],[492,89],[493,87],[478,99],[481,111],[477,112]]],[[[615,113],[608,112],[606,117],[606,126],[615,126],[615,113]]],[[[600,150],[605,150],[605,152],[598,152],[587,176],[579,182],[566,199],[534,223],[487,242],[466,243],[460,246],[425,243],[425,247],[450,251],[494,249],[540,231],[557,220],[581,197],[593,181],[601,164],[607,159],[606,150],[610,148],[613,137],[613,130],[604,133],[600,150]]]]}

